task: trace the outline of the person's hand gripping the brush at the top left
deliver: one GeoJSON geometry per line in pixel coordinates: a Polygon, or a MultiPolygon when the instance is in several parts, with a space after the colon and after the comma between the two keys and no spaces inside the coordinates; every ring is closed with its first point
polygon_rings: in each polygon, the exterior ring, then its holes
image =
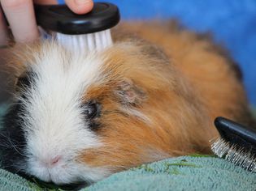
{"type": "MultiPolygon", "coordinates": [[[[11,32],[16,42],[30,42],[39,36],[35,19],[33,2],[37,4],[57,4],[57,0],[0,0],[0,47],[7,45],[7,23],[3,19],[5,13],[11,32]]],[[[92,10],[93,0],[66,0],[67,6],[76,14],[85,14],[92,10]]]]}

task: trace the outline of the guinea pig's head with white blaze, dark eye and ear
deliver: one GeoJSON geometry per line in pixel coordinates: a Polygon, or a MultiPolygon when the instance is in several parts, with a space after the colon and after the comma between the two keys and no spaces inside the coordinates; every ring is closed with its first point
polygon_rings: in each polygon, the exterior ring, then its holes
{"type": "Polygon", "coordinates": [[[19,52],[15,101],[1,132],[5,168],[61,185],[167,156],[143,112],[166,79],[140,47],[78,55],[45,42],[19,52]]]}

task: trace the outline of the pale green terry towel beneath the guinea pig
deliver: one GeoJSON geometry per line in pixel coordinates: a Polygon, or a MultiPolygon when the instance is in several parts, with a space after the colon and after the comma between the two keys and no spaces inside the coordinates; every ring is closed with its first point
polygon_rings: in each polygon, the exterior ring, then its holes
{"type": "MultiPolygon", "coordinates": [[[[6,106],[0,107],[0,114],[6,106]]],[[[0,169],[0,191],[50,190],[0,169]]],[[[54,189],[61,190],[61,189],[54,189]]],[[[190,155],[144,164],[82,189],[96,190],[256,190],[256,173],[224,159],[190,155]]]]}

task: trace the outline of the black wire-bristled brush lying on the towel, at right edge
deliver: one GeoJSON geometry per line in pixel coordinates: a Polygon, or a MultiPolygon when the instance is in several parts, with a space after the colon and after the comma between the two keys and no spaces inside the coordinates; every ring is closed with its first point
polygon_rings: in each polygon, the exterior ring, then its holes
{"type": "Polygon", "coordinates": [[[215,126],[220,138],[212,144],[212,151],[220,158],[256,172],[256,129],[223,117],[215,119],[215,126]]]}

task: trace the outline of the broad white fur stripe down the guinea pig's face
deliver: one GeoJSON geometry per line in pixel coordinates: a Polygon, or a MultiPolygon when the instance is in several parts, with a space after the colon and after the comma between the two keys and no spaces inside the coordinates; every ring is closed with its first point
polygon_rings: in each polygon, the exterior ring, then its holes
{"type": "Polygon", "coordinates": [[[102,60],[97,53],[68,54],[58,45],[44,45],[29,63],[34,83],[26,91],[24,127],[27,146],[26,171],[41,180],[67,184],[78,180],[100,180],[104,168],[89,168],[77,161],[81,152],[101,146],[89,129],[81,107],[92,84],[99,83],[102,60]],[[49,166],[56,156],[59,163],[49,166]]]}

